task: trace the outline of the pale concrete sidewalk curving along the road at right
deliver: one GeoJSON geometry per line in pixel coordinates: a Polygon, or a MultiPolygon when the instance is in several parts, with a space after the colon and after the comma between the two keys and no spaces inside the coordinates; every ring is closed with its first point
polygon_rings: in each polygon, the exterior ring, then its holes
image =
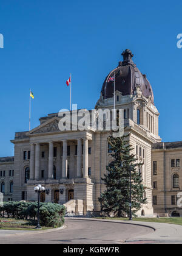
{"type": "Polygon", "coordinates": [[[120,221],[112,219],[95,219],[95,218],[73,218],[82,219],[87,221],[106,221],[106,222],[116,222],[137,226],[149,227],[153,230],[147,235],[135,236],[132,240],[129,238],[126,243],[132,241],[155,241],[156,243],[181,243],[182,244],[182,226],[167,223],[157,223],[157,222],[143,222],[143,221],[120,221]]]}

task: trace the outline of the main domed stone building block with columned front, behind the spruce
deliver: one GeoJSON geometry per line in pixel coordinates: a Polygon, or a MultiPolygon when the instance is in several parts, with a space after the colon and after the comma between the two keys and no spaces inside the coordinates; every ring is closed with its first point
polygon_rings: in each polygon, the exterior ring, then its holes
{"type": "MultiPolygon", "coordinates": [[[[152,87],[133,63],[132,52],[126,49],[122,55],[123,62],[104,80],[95,110],[107,108],[112,112],[114,101],[116,109],[124,110],[124,133],[130,134],[133,153],[138,162],[144,163],[138,171],[142,173],[147,204],[138,216],[153,216],[152,161],[157,154],[153,145],[161,143],[160,114],[154,105],[152,87]],[[110,80],[113,75],[115,94],[110,80]]],[[[77,110],[71,112],[72,118],[77,113],[77,110]]],[[[49,114],[39,119],[35,129],[15,133],[13,200],[35,201],[37,195],[33,188],[40,183],[46,189],[41,195],[42,202],[66,204],[67,209],[75,213],[99,212],[98,197],[105,189],[101,177],[111,160],[107,144],[110,132],[90,126],[86,130],[61,131],[60,119],[59,113],[49,114]]]]}

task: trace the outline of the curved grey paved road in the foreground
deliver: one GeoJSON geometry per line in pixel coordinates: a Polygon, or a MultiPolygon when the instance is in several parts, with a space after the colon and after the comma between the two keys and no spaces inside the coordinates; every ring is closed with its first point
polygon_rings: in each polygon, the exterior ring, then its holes
{"type": "Polygon", "coordinates": [[[149,227],[83,219],[66,219],[66,229],[49,233],[0,236],[1,244],[107,244],[122,243],[136,235],[154,232],[149,227]]]}

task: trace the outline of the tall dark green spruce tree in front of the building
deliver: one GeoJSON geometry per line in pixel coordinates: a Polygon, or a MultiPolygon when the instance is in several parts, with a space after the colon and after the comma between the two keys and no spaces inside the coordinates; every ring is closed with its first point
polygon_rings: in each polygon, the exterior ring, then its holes
{"type": "Polygon", "coordinates": [[[132,214],[140,210],[142,204],[147,203],[143,198],[144,187],[141,178],[141,166],[143,163],[136,162],[136,157],[132,154],[132,146],[127,140],[129,137],[108,137],[110,151],[113,160],[106,166],[107,174],[104,174],[106,191],[98,198],[101,203],[101,211],[107,216],[114,213],[115,216],[129,216],[130,199],[130,168],[132,180],[132,214]]]}

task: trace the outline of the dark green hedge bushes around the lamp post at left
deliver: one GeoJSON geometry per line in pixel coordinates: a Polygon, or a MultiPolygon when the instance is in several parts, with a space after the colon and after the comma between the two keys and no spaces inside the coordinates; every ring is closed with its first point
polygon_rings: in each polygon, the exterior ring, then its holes
{"type": "MultiPolygon", "coordinates": [[[[17,219],[36,219],[37,202],[4,202],[0,205],[0,215],[17,219]]],[[[40,203],[40,224],[46,227],[61,227],[64,224],[64,205],[40,203]]]]}

